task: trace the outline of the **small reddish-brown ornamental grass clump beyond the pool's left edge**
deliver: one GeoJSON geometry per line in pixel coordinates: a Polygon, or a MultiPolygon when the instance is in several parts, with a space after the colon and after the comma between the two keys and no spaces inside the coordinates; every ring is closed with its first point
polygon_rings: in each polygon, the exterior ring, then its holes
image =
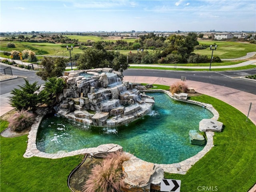
{"type": "Polygon", "coordinates": [[[28,110],[18,111],[9,119],[9,127],[12,131],[22,131],[30,127],[35,121],[34,114],[28,110]]]}

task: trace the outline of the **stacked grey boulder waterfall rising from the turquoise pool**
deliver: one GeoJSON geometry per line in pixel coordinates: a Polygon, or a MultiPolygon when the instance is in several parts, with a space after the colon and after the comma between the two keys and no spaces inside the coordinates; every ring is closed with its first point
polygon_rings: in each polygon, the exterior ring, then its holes
{"type": "Polygon", "coordinates": [[[154,104],[153,97],[141,94],[111,68],[64,72],[61,78],[66,87],[58,98],[58,114],[77,122],[120,126],[150,113],[154,104]]]}

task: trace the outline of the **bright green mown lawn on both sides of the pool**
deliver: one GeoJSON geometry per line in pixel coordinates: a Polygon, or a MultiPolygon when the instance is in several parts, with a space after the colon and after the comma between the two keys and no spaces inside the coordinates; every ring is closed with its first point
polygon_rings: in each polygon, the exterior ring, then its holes
{"type": "MultiPolygon", "coordinates": [[[[166,89],[168,86],[158,86],[166,89]]],[[[197,192],[198,186],[217,186],[220,192],[246,192],[256,181],[256,126],[232,106],[210,96],[192,97],[210,103],[220,114],[224,130],[215,133],[214,147],[185,175],[165,174],[181,180],[181,192],[197,192]]],[[[0,121],[1,131],[8,122],[0,121]]],[[[28,138],[1,136],[0,190],[5,192],[69,192],[68,174],[83,156],[61,159],[23,158],[28,138]]]]}

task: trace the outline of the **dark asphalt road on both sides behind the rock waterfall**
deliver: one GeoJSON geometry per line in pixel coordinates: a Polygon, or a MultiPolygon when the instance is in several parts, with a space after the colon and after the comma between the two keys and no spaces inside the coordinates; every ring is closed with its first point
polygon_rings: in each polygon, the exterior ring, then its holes
{"type": "MultiPolygon", "coordinates": [[[[6,66],[0,64],[0,68],[6,68],[6,66]]],[[[30,83],[38,81],[39,84],[43,84],[44,81],[36,76],[35,72],[28,70],[19,70],[12,68],[12,74],[18,76],[17,79],[0,82],[0,94],[6,94],[17,88],[18,85],[25,83],[26,78],[30,83]]],[[[166,77],[177,78],[185,76],[187,80],[205,82],[220,86],[226,86],[234,88],[244,92],[256,94],[256,82],[250,80],[244,80],[240,77],[256,74],[256,69],[243,70],[243,71],[226,71],[226,72],[184,72],[184,71],[166,71],[166,70],[138,70],[129,69],[123,72],[124,76],[154,76],[154,77],[166,77]]]]}

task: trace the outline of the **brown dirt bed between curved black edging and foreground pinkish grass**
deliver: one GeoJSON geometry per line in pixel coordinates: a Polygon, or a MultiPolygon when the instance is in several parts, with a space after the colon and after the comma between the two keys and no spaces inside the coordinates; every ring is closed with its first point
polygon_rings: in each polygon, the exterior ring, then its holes
{"type": "Polygon", "coordinates": [[[87,156],[84,163],[74,172],[70,177],[70,187],[74,192],[82,192],[82,188],[88,179],[88,176],[91,174],[91,170],[94,165],[100,164],[103,159],[101,158],[90,158],[87,156]]]}

